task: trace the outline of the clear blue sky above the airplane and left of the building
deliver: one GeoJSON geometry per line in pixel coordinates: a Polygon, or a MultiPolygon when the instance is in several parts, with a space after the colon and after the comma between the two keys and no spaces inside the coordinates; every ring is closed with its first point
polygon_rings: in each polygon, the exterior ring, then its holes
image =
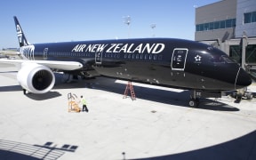
{"type": "Polygon", "coordinates": [[[128,37],[194,40],[195,6],[220,0],[3,0],[0,2],[0,49],[18,47],[13,16],[30,44],[128,37]],[[154,31],[151,24],[156,24],[154,31]]]}

